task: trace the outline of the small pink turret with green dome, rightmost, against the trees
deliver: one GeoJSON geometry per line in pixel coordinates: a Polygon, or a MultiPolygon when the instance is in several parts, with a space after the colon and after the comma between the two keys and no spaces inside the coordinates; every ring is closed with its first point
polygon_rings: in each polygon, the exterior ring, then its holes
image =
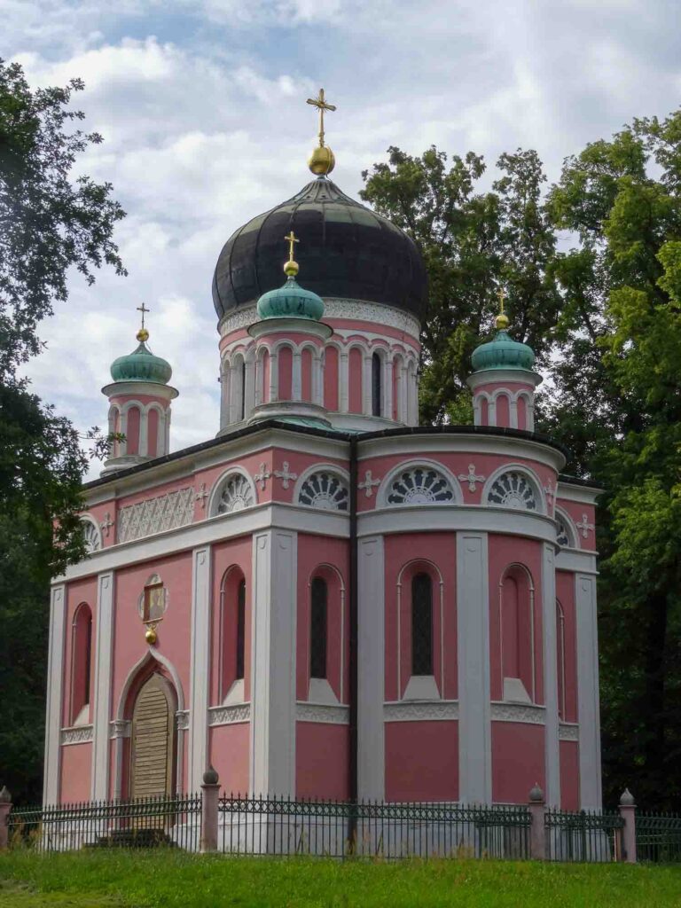
{"type": "Polygon", "coordinates": [[[504,291],[499,291],[497,333],[473,350],[473,373],[467,380],[473,392],[476,426],[534,431],[535,389],[541,376],[534,371],[535,354],[528,344],[508,334],[504,291]]]}

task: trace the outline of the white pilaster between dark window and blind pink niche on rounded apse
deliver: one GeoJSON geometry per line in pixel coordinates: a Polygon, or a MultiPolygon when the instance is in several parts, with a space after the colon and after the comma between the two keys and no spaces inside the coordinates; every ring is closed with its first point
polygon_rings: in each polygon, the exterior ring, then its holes
{"type": "Polygon", "coordinates": [[[491,804],[487,533],[457,533],[459,801],[491,804]]]}

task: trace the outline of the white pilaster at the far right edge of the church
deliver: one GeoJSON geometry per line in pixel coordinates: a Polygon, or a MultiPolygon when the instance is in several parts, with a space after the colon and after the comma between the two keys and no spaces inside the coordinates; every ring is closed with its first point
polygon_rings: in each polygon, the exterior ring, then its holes
{"type": "Polygon", "coordinates": [[[575,576],[577,614],[577,714],[579,720],[579,806],[600,809],[600,709],[596,577],[575,576]]]}

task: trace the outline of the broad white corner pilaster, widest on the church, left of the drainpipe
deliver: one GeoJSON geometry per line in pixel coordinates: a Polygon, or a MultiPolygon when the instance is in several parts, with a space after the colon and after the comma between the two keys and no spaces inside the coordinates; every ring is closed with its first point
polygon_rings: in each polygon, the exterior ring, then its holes
{"type": "Polygon", "coordinates": [[[250,788],[295,795],[298,534],[253,536],[250,788]]]}

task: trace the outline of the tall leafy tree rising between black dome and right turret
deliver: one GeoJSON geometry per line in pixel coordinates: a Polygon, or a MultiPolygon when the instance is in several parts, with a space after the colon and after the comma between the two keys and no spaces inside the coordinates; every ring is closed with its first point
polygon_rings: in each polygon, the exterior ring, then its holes
{"type": "Polygon", "coordinates": [[[512,329],[544,362],[560,298],[550,271],[555,236],[541,204],[546,177],[533,151],[502,154],[491,192],[477,192],[481,156],[447,155],[435,147],[420,157],[389,149],[360,193],[410,233],[429,274],[423,325],[420,410],[425,422],[466,422],[470,354],[492,328],[498,289],[508,293],[512,329]]]}

